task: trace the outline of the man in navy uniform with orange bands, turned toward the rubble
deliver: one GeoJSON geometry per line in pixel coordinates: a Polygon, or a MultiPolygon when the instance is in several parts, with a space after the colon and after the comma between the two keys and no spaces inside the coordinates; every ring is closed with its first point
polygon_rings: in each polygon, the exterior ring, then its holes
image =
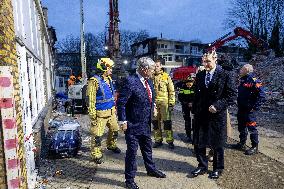
{"type": "Polygon", "coordinates": [[[258,152],[258,131],[256,112],[265,100],[262,83],[253,73],[250,64],[244,65],[240,70],[240,84],[238,87],[238,130],[240,142],[233,145],[234,149],[244,150],[246,155],[258,152]],[[246,150],[245,144],[248,132],[250,133],[251,148],[246,150]]]}

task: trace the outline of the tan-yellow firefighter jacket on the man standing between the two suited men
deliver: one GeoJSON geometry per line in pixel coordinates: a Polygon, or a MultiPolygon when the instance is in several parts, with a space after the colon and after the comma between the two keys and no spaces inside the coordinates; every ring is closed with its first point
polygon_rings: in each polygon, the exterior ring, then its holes
{"type": "Polygon", "coordinates": [[[156,93],[156,102],[168,102],[169,106],[175,104],[175,88],[170,76],[161,71],[154,75],[154,88],[156,93]]]}

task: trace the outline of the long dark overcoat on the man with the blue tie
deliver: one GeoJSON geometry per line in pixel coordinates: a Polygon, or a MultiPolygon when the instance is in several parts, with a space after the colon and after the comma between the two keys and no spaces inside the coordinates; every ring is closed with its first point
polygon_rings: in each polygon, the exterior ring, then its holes
{"type": "Polygon", "coordinates": [[[205,76],[205,70],[196,75],[194,144],[200,147],[223,147],[226,141],[226,109],[236,99],[235,82],[230,73],[218,65],[208,88],[205,76]],[[216,107],[217,113],[208,111],[210,105],[216,107]]]}

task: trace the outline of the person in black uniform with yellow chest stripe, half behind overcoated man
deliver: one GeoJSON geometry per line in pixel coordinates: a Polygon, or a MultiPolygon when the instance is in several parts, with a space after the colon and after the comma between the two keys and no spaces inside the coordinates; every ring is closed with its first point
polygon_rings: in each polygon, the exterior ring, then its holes
{"type": "Polygon", "coordinates": [[[194,100],[194,78],[195,74],[191,74],[185,81],[177,84],[177,88],[179,89],[178,100],[181,103],[183,118],[185,121],[185,133],[187,136],[186,141],[189,143],[192,142],[191,131],[193,115],[191,113],[191,108],[194,100]]]}

